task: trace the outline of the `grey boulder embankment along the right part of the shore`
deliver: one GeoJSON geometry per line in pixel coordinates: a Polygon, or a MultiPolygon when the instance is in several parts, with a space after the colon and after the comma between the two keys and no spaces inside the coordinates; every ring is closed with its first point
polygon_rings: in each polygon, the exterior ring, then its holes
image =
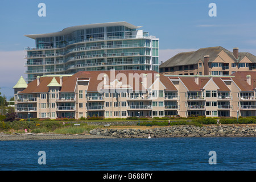
{"type": "Polygon", "coordinates": [[[255,126],[167,126],[154,129],[94,129],[91,135],[116,138],[154,137],[256,137],[255,126]]]}

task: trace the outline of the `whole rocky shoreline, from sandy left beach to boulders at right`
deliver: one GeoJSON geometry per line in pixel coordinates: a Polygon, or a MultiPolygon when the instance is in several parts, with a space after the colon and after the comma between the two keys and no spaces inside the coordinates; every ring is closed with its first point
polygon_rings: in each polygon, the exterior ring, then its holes
{"type": "Polygon", "coordinates": [[[0,140],[49,140],[92,138],[168,138],[168,137],[256,137],[255,125],[166,126],[148,129],[94,129],[89,134],[0,133],[0,140]]]}

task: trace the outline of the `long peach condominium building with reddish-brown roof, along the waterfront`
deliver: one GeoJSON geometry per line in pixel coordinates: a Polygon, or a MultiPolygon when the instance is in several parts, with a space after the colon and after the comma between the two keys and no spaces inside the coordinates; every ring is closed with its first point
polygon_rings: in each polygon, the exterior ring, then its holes
{"type": "Polygon", "coordinates": [[[81,71],[14,86],[19,118],[256,115],[256,73],[164,76],[155,71],[81,71]]]}

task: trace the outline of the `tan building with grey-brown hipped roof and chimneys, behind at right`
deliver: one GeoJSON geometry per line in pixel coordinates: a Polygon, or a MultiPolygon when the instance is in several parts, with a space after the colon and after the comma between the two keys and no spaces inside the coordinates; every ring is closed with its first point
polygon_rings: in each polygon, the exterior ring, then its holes
{"type": "Polygon", "coordinates": [[[230,52],[220,46],[181,52],[160,65],[160,73],[167,75],[228,76],[237,71],[256,71],[256,57],[238,48],[230,52]]]}

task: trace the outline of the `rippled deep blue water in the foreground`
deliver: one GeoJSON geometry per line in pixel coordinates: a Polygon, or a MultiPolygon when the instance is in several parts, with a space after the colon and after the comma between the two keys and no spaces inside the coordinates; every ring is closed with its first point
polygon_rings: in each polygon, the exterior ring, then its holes
{"type": "Polygon", "coordinates": [[[243,138],[127,138],[0,141],[0,170],[255,170],[255,141],[243,138]],[[39,151],[46,164],[38,164],[39,151]],[[209,151],[217,164],[210,165],[209,151]]]}

